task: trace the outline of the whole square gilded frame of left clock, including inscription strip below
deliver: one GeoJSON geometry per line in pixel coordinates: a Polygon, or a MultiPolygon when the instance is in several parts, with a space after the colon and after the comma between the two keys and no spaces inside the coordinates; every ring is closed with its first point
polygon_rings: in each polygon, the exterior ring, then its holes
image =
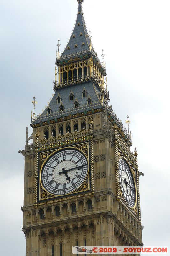
{"type": "Polygon", "coordinates": [[[41,204],[48,204],[48,203],[53,203],[53,202],[58,202],[62,200],[68,200],[72,197],[80,197],[80,196],[85,196],[85,195],[93,195],[94,194],[94,171],[93,171],[93,143],[92,143],[92,138],[89,138],[89,136],[86,138],[83,138],[83,142],[77,142],[76,144],[70,144],[69,143],[63,143],[65,145],[61,146],[55,146],[53,145],[53,148],[47,148],[47,149],[40,149],[36,148],[36,157],[35,157],[35,166],[37,169],[37,175],[35,177],[35,205],[41,205],[41,204]],[[90,139],[90,140],[89,140],[90,139]],[[85,150],[82,150],[82,147],[85,146],[85,150]],[[70,192],[66,195],[54,195],[49,193],[48,191],[43,188],[42,183],[41,183],[41,171],[48,160],[49,157],[51,157],[55,152],[58,152],[62,149],[76,149],[79,150],[87,159],[88,163],[88,173],[86,175],[86,178],[84,182],[73,192],[70,192]],[[85,152],[87,151],[87,152],[85,152]],[[44,159],[42,157],[45,157],[44,159]],[[86,188],[83,186],[86,186],[86,188]],[[80,189],[82,188],[82,189],[80,189]],[[44,197],[42,197],[42,193],[44,197]]]}

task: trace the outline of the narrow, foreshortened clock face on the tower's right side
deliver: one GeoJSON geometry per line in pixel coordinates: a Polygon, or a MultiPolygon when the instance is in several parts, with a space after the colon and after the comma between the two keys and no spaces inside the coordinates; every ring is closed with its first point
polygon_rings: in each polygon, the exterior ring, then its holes
{"type": "Polygon", "coordinates": [[[133,207],[136,201],[135,185],[129,166],[124,159],[119,161],[119,181],[125,201],[133,207]]]}

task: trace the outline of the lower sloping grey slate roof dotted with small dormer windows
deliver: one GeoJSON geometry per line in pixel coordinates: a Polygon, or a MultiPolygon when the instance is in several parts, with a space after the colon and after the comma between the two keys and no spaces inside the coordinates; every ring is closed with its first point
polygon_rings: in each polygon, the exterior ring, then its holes
{"type": "Polygon", "coordinates": [[[100,98],[99,98],[99,90],[96,88],[96,86],[93,84],[93,82],[86,82],[83,84],[79,84],[79,85],[73,85],[70,87],[64,87],[64,88],[60,88],[57,89],[55,91],[55,94],[52,98],[52,100],[50,101],[50,103],[48,104],[47,108],[43,111],[43,113],[41,114],[40,117],[38,117],[33,124],[37,124],[39,122],[44,122],[46,120],[52,120],[54,118],[59,118],[61,116],[68,116],[69,114],[76,114],[77,112],[81,113],[84,110],[88,111],[93,109],[97,109],[101,107],[101,102],[100,102],[100,98]],[[86,90],[86,98],[82,98],[82,92],[83,90],[86,90]],[[74,94],[74,100],[70,101],[70,92],[73,92],[74,94]],[[61,102],[62,105],[64,106],[64,111],[60,112],[60,105],[61,103],[57,104],[57,98],[58,98],[58,94],[61,97],[61,102]],[[87,104],[87,99],[88,98],[92,99],[92,104],[88,105],[87,104]],[[75,100],[78,101],[79,106],[78,108],[74,107],[74,102],[75,100]],[[47,115],[47,109],[51,109],[52,113],[50,115],[47,115]]]}

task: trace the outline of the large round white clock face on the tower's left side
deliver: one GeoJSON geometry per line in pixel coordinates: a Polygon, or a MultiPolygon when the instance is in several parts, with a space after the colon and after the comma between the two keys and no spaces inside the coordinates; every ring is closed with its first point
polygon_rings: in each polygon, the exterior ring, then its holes
{"type": "Polygon", "coordinates": [[[52,155],[41,170],[41,184],[53,195],[66,195],[85,181],[88,162],[85,155],[73,148],[62,149],[52,155]]]}

